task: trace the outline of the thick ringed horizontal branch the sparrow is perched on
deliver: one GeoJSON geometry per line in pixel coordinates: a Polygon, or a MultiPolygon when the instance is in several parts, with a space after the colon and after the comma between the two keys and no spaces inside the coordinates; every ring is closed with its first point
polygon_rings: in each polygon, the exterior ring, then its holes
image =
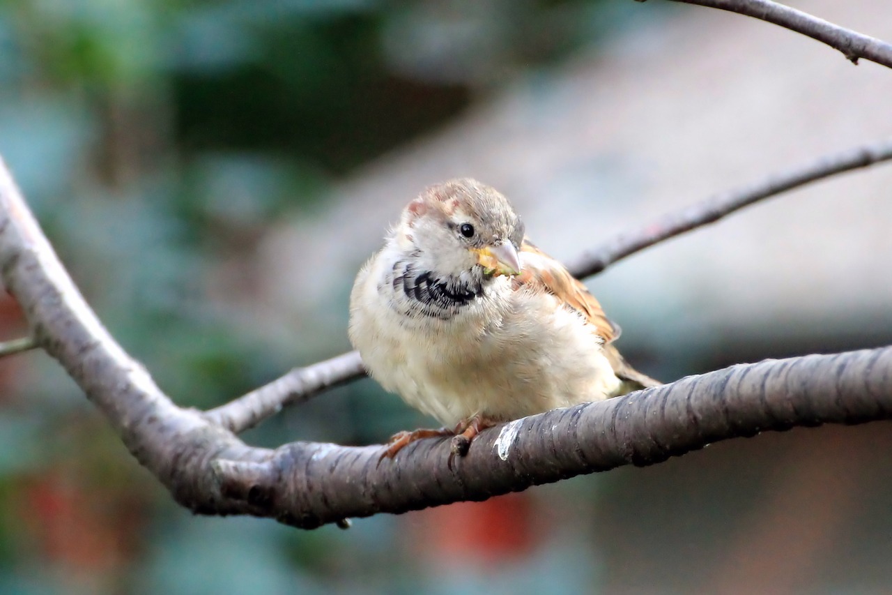
{"type": "Polygon", "coordinates": [[[263,463],[220,458],[223,494],[286,524],[481,500],[622,465],[653,465],[706,444],[797,425],[892,418],[892,348],[735,365],[483,432],[454,469],[450,440],[381,449],[294,443],[263,463]]]}

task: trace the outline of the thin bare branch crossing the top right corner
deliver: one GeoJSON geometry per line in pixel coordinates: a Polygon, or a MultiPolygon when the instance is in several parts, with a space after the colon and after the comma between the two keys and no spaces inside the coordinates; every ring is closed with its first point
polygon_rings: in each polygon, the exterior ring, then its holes
{"type": "MultiPolygon", "coordinates": [[[[644,0],[638,0],[644,2],[644,0]]],[[[786,29],[816,39],[842,52],[853,63],[859,58],[892,68],[892,45],[871,38],[851,29],[839,27],[809,13],[797,11],[770,0],[672,0],[684,4],[709,6],[731,13],[745,14],[762,21],[772,22],[786,29]]]]}

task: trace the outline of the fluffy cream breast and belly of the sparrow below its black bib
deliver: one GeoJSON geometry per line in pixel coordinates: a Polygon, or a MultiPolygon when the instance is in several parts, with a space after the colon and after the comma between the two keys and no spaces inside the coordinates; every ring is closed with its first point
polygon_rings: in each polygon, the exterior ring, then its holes
{"type": "Polygon", "coordinates": [[[599,336],[554,296],[496,277],[450,315],[429,315],[413,311],[381,256],[354,286],[351,341],[376,381],[443,425],[508,421],[617,388],[599,336]]]}

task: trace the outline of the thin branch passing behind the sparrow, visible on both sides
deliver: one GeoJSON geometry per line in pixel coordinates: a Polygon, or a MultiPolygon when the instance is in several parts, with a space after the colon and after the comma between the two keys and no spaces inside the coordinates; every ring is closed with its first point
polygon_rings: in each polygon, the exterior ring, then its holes
{"type": "MultiPolygon", "coordinates": [[[[778,172],[745,188],[708,198],[677,213],[665,214],[637,230],[621,234],[601,247],[582,254],[568,265],[578,278],[598,274],[607,266],[666,239],[716,222],[744,206],[838,173],[892,159],[892,139],[841,153],[825,155],[785,172],[778,172]]],[[[233,432],[244,432],[276,415],[283,406],[305,401],[327,387],[360,378],[365,373],[359,353],[351,351],[318,364],[295,368],[266,386],[211,409],[208,419],[233,432]]]]}

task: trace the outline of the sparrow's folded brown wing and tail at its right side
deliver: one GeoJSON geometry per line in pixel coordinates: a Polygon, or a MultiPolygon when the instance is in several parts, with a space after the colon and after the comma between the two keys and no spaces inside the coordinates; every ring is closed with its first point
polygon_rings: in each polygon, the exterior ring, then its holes
{"type": "Polygon", "coordinates": [[[619,351],[610,345],[619,339],[621,332],[619,326],[607,318],[598,300],[566,270],[563,264],[558,263],[525,238],[520,252],[524,266],[523,271],[514,278],[515,288],[532,286],[543,289],[585,316],[586,321],[591,324],[592,331],[604,339],[604,355],[607,356],[614,373],[625,381],[624,388],[619,394],[660,384],[626,364],[619,351]]]}

